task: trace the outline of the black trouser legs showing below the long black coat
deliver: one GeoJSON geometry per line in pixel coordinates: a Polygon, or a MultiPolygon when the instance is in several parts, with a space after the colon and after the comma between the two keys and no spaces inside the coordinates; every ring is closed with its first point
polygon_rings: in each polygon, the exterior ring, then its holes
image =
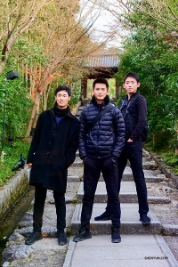
{"type": "MultiPolygon", "coordinates": [[[[43,224],[44,203],[47,189],[42,184],[35,186],[35,203],[33,213],[33,228],[34,231],[41,231],[43,224]]],[[[65,194],[53,190],[53,198],[55,200],[57,214],[57,230],[64,231],[66,227],[66,203],[65,194]]]]}

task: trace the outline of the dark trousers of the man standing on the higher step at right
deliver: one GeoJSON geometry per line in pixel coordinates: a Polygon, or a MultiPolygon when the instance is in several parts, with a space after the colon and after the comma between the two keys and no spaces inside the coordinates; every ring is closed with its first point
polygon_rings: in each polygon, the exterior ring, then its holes
{"type": "MultiPolygon", "coordinates": [[[[147,214],[149,212],[149,205],[147,201],[147,187],[142,171],[142,140],[134,142],[125,142],[124,149],[117,160],[118,166],[118,193],[120,192],[120,182],[125,170],[127,159],[130,161],[131,169],[134,176],[136,191],[139,203],[139,213],[147,214]]],[[[107,206],[109,211],[109,206],[107,206]]]]}

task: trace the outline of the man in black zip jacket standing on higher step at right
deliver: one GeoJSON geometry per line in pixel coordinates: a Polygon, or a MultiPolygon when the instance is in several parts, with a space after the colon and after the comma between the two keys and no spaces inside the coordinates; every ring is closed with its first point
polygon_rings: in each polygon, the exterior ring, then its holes
{"type": "MultiPolygon", "coordinates": [[[[136,185],[139,214],[142,224],[150,224],[149,205],[147,201],[147,188],[142,171],[142,131],[147,122],[147,102],[146,99],[137,91],[140,86],[140,80],[137,74],[127,73],[124,78],[124,88],[127,95],[119,105],[125,119],[125,146],[117,160],[118,164],[118,192],[120,191],[120,182],[125,170],[127,159],[130,161],[131,169],[134,175],[136,185]]],[[[95,221],[110,220],[109,206],[106,211],[94,218],[95,221]]]]}

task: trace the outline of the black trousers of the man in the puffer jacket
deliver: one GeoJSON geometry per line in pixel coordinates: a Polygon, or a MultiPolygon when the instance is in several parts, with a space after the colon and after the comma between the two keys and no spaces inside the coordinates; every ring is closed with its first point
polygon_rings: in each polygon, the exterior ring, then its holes
{"type": "Polygon", "coordinates": [[[106,183],[112,228],[120,227],[117,164],[114,165],[111,158],[87,158],[84,166],[84,198],[81,214],[81,226],[86,229],[90,228],[94,194],[101,173],[106,183]]]}

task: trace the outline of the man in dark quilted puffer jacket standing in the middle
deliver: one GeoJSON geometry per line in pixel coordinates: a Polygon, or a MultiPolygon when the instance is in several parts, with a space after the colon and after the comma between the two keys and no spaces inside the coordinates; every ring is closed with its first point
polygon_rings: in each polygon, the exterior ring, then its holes
{"type": "Polygon", "coordinates": [[[109,84],[105,78],[93,81],[92,103],[87,106],[80,120],[79,154],[84,160],[84,198],[81,214],[81,228],[75,242],[90,239],[90,219],[93,199],[100,174],[103,174],[111,214],[111,240],[121,241],[120,203],[117,191],[117,158],[125,143],[125,123],[119,109],[109,104],[109,84]],[[92,125],[94,117],[101,110],[110,109],[92,125]]]}

